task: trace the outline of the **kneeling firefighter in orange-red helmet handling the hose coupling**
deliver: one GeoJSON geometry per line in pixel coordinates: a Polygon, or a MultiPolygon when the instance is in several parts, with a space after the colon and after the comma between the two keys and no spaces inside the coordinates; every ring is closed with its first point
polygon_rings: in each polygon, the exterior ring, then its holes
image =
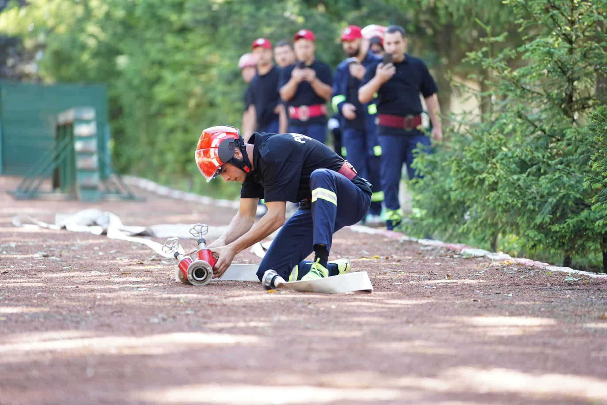
{"type": "Polygon", "coordinates": [[[220,175],[242,182],[240,208],[228,230],[208,248],[219,256],[213,277],[222,276],[234,256],[282,229],[263,257],[257,276],[274,270],[285,280],[313,280],[350,271],[348,260],[328,262],[333,233],[365,217],[371,184],[328,146],[301,134],[255,132],[245,143],[237,128],[202,131],[196,164],[209,182],[220,175]],[[257,222],[257,200],[268,212],[257,222]],[[285,223],[286,202],[299,209],[285,223]],[[283,226],[284,225],[284,226],[283,226]],[[314,261],[304,260],[314,251],[314,261]]]}

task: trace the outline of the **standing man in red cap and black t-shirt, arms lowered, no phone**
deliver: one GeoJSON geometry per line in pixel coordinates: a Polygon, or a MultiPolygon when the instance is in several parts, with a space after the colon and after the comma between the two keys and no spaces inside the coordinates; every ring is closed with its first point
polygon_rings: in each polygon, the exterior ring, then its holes
{"type": "Polygon", "coordinates": [[[251,81],[251,127],[243,129],[245,138],[253,131],[279,134],[286,128],[279,128],[280,114],[284,107],[280,103],[278,81],[280,70],[274,66],[272,44],[266,38],[258,38],[251,45],[253,56],[257,59],[257,74],[251,81]]]}

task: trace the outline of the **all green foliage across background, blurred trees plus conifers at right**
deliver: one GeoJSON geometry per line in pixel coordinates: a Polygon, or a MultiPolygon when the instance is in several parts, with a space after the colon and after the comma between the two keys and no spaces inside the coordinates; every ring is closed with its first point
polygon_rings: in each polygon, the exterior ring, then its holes
{"type": "Polygon", "coordinates": [[[347,24],[401,24],[443,111],[453,92],[480,103],[418,158],[407,232],[569,264],[607,251],[606,13],[607,0],[32,0],[0,13],[0,35],[37,67],[25,80],[109,84],[117,169],[236,195],[203,183],[192,154],[202,128],[240,124],[251,41],[305,27],[336,66],[347,24]]]}

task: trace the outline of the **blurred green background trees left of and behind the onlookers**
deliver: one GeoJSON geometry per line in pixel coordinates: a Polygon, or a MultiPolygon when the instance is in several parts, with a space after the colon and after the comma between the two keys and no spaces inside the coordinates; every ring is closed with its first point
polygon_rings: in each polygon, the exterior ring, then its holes
{"type": "Polygon", "coordinates": [[[253,39],[290,39],[306,27],[316,33],[319,59],[336,66],[347,24],[402,24],[448,109],[444,73],[466,70],[461,59],[484,33],[475,18],[512,25],[504,8],[481,0],[35,0],[4,10],[0,33],[21,39],[37,64],[29,80],[109,84],[119,171],[161,182],[177,176],[203,191],[225,185],[198,181],[195,140],[211,124],[240,124],[245,85],[236,62],[253,39]]]}

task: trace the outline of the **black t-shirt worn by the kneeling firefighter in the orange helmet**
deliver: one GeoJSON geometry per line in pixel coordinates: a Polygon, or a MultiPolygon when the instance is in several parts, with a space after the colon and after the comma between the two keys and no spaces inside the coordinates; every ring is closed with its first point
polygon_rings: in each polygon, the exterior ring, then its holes
{"type": "MultiPolygon", "coordinates": [[[[310,137],[300,134],[259,134],[248,140],[254,145],[253,167],[242,183],[240,198],[263,198],[266,202],[299,202],[311,199],[310,174],[316,169],[339,171],[344,159],[310,137]]],[[[365,180],[352,182],[371,194],[365,180]]]]}

